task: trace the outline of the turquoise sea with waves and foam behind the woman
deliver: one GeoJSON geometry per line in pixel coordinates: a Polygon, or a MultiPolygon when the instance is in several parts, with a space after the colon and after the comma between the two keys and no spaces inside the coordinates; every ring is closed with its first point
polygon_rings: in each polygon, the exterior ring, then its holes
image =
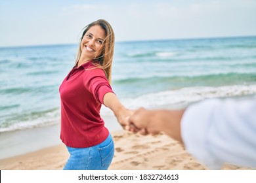
{"type": "MultiPolygon", "coordinates": [[[[59,123],[58,87],[76,51],[76,44],[0,48],[0,131],[59,123]]],[[[116,42],[112,88],[129,108],[255,94],[256,37],[116,42]]]]}

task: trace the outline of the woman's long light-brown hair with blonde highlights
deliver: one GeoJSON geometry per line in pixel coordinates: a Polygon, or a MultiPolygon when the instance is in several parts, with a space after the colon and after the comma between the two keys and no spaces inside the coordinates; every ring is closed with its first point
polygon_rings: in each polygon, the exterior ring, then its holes
{"type": "MultiPolygon", "coordinates": [[[[114,34],[114,31],[113,31],[111,25],[106,20],[100,19],[100,20],[96,20],[95,22],[92,22],[91,24],[85,26],[84,27],[85,30],[83,31],[83,35],[80,40],[80,44],[81,44],[81,41],[82,41],[85,33],[87,33],[87,31],[95,25],[100,25],[100,27],[102,27],[102,29],[104,29],[106,38],[104,39],[104,42],[102,44],[104,46],[104,48],[102,50],[102,56],[95,58],[95,61],[93,61],[93,65],[95,65],[98,68],[103,69],[104,72],[106,73],[106,78],[108,78],[108,82],[111,82],[112,61],[113,61],[113,56],[114,56],[114,44],[115,44],[115,34],[114,34]]],[[[77,62],[81,57],[80,44],[79,44],[75,62],[77,62]]]]}

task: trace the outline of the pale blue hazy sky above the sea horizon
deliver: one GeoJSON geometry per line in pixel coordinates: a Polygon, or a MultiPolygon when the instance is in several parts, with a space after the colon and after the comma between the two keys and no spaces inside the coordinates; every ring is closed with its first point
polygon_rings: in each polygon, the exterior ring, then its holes
{"type": "Polygon", "coordinates": [[[256,0],[0,0],[0,46],[75,44],[85,25],[116,41],[256,35],[256,0]]]}

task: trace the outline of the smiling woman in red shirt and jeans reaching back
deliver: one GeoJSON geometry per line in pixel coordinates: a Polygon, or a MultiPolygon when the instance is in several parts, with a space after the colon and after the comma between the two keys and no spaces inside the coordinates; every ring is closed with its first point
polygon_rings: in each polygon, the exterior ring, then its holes
{"type": "Polygon", "coordinates": [[[70,152],[64,169],[108,169],[114,142],[100,117],[100,107],[110,108],[119,124],[131,114],[112,91],[111,69],[114,31],[106,20],[85,27],[75,66],[60,85],[60,139],[70,152]]]}

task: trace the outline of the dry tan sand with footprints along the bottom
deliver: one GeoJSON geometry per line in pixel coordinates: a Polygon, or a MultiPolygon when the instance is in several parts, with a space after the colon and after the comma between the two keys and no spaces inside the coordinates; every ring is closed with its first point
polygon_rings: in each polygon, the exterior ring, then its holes
{"type": "MultiPolygon", "coordinates": [[[[142,136],[128,131],[112,133],[115,156],[110,170],[205,170],[183,146],[167,135],[142,136]]],[[[60,170],[68,159],[64,144],[0,160],[2,170],[60,170]]],[[[225,165],[223,169],[249,169],[225,165]]]]}

